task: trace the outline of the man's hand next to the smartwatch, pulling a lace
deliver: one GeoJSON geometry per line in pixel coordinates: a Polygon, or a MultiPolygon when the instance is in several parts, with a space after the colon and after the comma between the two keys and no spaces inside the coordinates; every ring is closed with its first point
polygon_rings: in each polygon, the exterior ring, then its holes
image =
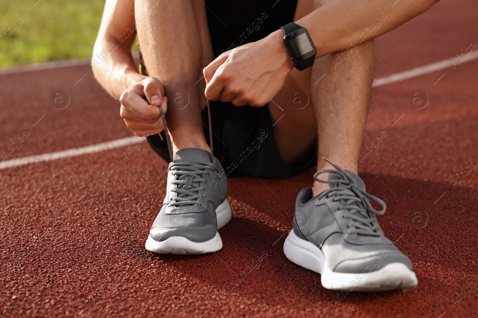
{"type": "Polygon", "coordinates": [[[270,102],[295,66],[281,32],[219,55],[203,70],[206,97],[236,106],[262,107],[270,102]]]}

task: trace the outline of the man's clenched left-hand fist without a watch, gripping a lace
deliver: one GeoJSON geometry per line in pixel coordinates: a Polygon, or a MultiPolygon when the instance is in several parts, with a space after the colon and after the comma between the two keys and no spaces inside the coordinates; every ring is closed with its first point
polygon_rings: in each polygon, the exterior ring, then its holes
{"type": "Polygon", "coordinates": [[[163,84],[157,78],[145,77],[136,82],[121,94],[120,102],[120,116],[135,135],[144,136],[146,132],[151,136],[163,131],[158,106],[163,107],[166,113],[168,99],[164,96],[163,84]]]}

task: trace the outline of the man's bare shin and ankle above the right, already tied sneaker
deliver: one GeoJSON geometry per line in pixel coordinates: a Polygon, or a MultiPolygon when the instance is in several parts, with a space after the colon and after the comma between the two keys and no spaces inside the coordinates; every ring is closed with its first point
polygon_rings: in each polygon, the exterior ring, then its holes
{"type": "MultiPolygon", "coordinates": [[[[375,66],[375,43],[360,44],[343,62],[337,54],[315,60],[312,83],[326,74],[312,89],[312,104],[317,117],[317,170],[333,169],[323,156],[357,174],[375,66]]],[[[314,195],[328,188],[314,183],[314,195]]]]}

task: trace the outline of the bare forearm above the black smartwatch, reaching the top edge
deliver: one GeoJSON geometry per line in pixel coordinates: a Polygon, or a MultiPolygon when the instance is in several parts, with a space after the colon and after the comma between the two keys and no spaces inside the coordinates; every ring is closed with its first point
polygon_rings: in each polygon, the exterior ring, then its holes
{"type": "Polygon", "coordinates": [[[296,23],[309,31],[316,57],[320,57],[387,33],[430,9],[438,0],[395,1],[331,1],[296,23]]]}

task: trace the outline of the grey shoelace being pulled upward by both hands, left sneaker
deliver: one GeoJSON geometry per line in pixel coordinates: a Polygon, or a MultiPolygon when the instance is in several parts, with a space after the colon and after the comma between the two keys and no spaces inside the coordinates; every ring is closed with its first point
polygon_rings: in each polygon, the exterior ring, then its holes
{"type": "Polygon", "coordinates": [[[219,166],[216,162],[216,157],[213,155],[212,147],[212,127],[211,127],[211,107],[209,105],[209,99],[207,99],[207,116],[209,119],[209,143],[211,145],[211,159],[212,163],[197,163],[186,161],[182,163],[174,163],[173,160],[173,147],[171,146],[171,140],[169,138],[168,127],[166,124],[166,118],[164,117],[163,108],[159,106],[159,112],[164,124],[164,134],[166,135],[166,143],[168,144],[169,156],[171,157],[171,163],[169,164],[169,170],[173,171],[174,180],[171,182],[177,185],[171,191],[177,195],[173,197],[173,201],[170,205],[192,205],[199,204],[199,199],[202,195],[199,195],[199,191],[205,190],[204,187],[200,187],[201,182],[207,182],[206,178],[203,178],[203,174],[211,174],[209,171],[219,171],[219,166]],[[176,177],[177,176],[177,177],[176,177]]]}

